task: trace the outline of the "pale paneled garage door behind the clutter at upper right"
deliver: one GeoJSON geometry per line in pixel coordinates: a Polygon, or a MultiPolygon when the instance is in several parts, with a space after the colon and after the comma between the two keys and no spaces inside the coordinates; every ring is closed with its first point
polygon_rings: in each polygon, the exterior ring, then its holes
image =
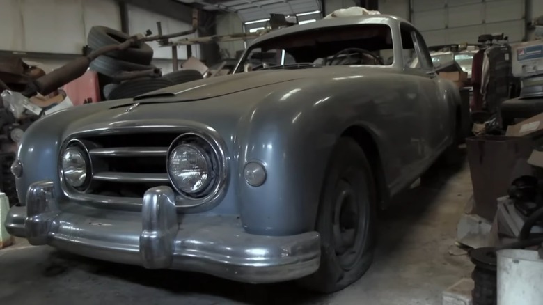
{"type": "Polygon", "coordinates": [[[481,34],[504,33],[510,42],[526,33],[522,0],[411,0],[411,20],[427,45],[476,43],[481,34]]]}

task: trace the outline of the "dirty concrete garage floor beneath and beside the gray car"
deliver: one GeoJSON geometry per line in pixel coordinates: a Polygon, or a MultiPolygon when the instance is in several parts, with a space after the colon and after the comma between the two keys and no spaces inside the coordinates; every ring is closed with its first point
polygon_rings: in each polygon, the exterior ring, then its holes
{"type": "Polygon", "coordinates": [[[381,215],[374,264],[334,295],[292,283],[251,286],[212,276],[104,263],[31,247],[0,250],[0,304],[441,304],[443,289],[473,266],[455,250],[455,230],[471,196],[469,169],[437,174],[381,215]]]}

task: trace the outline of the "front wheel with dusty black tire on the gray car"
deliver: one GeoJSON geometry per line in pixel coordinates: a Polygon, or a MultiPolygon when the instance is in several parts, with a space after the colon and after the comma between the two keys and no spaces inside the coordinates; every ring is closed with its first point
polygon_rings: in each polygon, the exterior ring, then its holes
{"type": "Polygon", "coordinates": [[[368,159],[352,139],[338,141],[325,177],[315,226],[321,237],[320,267],[298,283],[331,293],[360,279],[372,263],[377,196],[368,159]]]}

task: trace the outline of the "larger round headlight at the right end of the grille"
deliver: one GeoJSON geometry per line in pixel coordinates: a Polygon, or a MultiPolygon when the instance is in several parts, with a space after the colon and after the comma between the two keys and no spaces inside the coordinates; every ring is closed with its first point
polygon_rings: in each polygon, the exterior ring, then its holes
{"type": "Polygon", "coordinates": [[[168,159],[168,173],[173,184],[187,194],[203,191],[210,184],[211,167],[207,153],[189,143],[174,148],[168,159]]]}

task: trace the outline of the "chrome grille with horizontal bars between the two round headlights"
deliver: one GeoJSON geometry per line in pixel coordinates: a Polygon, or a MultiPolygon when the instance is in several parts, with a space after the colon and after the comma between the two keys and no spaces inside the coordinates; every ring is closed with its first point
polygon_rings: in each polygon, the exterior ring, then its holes
{"type": "MultiPolygon", "coordinates": [[[[210,143],[214,153],[221,159],[217,187],[214,188],[214,194],[201,200],[178,194],[176,198],[178,209],[214,205],[220,201],[226,189],[228,171],[225,146],[218,140],[220,138],[214,130],[207,128],[207,131],[212,134],[198,132],[198,135],[210,143]]],[[[85,143],[91,158],[91,184],[86,191],[77,191],[61,182],[63,191],[74,201],[100,208],[141,210],[143,194],[148,189],[157,186],[175,189],[167,173],[168,148],[181,134],[194,134],[194,132],[194,129],[172,127],[171,129],[160,128],[156,132],[141,133],[141,127],[139,127],[138,130],[123,128],[106,132],[74,134],[64,141],[61,154],[65,146],[74,139],[85,143]]]]}

